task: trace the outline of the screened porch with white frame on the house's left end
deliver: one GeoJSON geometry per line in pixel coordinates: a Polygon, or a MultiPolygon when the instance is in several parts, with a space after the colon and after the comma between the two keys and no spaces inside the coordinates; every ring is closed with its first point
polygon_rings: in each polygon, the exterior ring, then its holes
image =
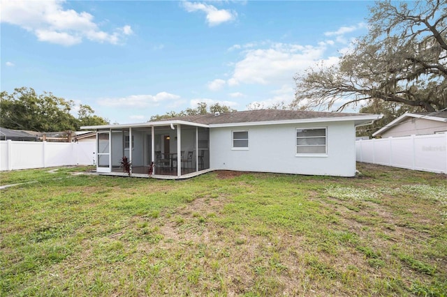
{"type": "Polygon", "coordinates": [[[210,169],[209,139],[206,125],[182,121],[98,126],[96,171],[124,174],[126,157],[135,176],[149,176],[152,164],[155,178],[194,176],[210,169]]]}

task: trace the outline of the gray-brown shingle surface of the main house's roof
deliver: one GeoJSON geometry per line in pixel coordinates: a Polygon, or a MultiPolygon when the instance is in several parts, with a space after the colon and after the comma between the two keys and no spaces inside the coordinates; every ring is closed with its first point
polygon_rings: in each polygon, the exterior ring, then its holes
{"type": "Polygon", "coordinates": [[[248,110],[244,112],[227,112],[218,116],[214,114],[198,114],[195,116],[177,116],[159,121],[189,121],[201,124],[225,124],[225,123],[251,123],[263,121],[287,121],[299,119],[328,119],[347,116],[360,116],[365,114],[342,113],[342,112],[309,112],[300,110],[283,109],[261,109],[248,110]]]}

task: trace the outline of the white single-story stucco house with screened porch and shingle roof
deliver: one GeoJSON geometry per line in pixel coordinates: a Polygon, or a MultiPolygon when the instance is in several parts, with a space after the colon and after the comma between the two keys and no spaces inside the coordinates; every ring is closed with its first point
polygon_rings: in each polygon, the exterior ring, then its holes
{"type": "Polygon", "coordinates": [[[186,178],[211,170],[328,176],[356,174],[356,127],[378,114],[252,110],[163,121],[85,126],[96,130],[97,172],[186,178]]]}

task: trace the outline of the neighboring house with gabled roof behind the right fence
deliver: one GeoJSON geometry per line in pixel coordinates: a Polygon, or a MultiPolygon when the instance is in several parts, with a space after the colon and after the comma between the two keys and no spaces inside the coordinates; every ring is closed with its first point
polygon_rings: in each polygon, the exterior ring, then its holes
{"type": "Polygon", "coordinates": [[[407,112],[385,125],[372,136],[386,138],[446,132],[447,112],[407,112]]]}

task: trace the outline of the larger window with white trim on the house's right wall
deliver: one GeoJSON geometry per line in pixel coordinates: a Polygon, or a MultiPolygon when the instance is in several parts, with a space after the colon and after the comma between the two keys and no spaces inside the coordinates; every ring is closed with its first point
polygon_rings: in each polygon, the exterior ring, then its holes
{"type": "Polygon", "coordinates": [[[328,153],[327,128],[297,128],[297,155],[325,155],[328,153]]]}

